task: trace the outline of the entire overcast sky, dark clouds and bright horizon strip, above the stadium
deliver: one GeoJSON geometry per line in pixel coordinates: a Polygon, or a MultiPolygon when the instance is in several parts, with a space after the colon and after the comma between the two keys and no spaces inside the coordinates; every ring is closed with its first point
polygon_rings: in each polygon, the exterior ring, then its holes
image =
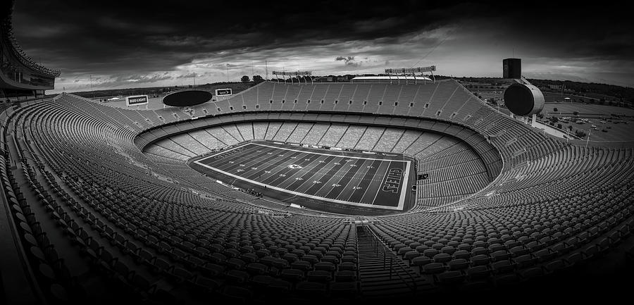
{"type": "Polygon", "coordinates": [[[94,89],[266,77],[265,58],[269,73],[435,65],[501,77],[502,58],[518,57],[528,78],[634,87],[628,9],[522,4],[17,0],[13,27],[28,55],[62,71],[53,92],[90,89],[91,77],[94,89]]]}

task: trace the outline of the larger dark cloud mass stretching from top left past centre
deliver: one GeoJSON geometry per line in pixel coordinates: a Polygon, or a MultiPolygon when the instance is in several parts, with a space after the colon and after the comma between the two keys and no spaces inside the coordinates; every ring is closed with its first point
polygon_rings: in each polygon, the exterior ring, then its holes
{"type": "Polygon", "coordinates": [[[18,0],[18,39],[34,57],[66,72],[167,70],[211,52],[394,39],[445,22],[442,11],[412,1],[54,1],[18,0]]]}

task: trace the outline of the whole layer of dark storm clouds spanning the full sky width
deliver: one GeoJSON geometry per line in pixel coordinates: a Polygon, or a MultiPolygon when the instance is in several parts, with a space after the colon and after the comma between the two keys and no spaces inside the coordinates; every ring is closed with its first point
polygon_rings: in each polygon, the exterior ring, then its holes
{"type": "MultiPolygon", "coordinates": [[[[285,1],[17,0],[13,15],[18,41],[45,66],[60,68],[65,75],[110,75],[111,80],[145,75],[134,78],[142,81],[154,80],[156,71],[173,71],[210,56],[222,59],[240,54],[249,61],[265,56],[283,61],[295,55],[293,48],[308,53],[311,47],[343,48],[348,42],[373,46],[366,55],[393,54],[383,58],[386,64],[399,59],[415,62],[417,58],[399,56],[411,56],[413,51],[404,50],[421,44],[433,51],[432,46],[446,37],[419,37],[416,43],[411,37],[449,27],[472,30],[473,37],[465,41],[482,35],[480,40],[485,41],[479,43],[492,49],[512,45],[533,57],[629,61],[634,39],[627,14],[618,4],[550,2],[513,6],[455,1],[311,1],[302,6],[285,1]]],[[[471,48],[453,43],[453,51],[471,48]]],[[[345,56],[345,66],[354,68],[366,62],[354,61],[356,54],[349,49],[331,50],[350,54],[345,56]]],[[[426,53],[421,50],[418,58],[426,53]]],[[[248,65],[230,68],[248,69],[248,65]]]]}

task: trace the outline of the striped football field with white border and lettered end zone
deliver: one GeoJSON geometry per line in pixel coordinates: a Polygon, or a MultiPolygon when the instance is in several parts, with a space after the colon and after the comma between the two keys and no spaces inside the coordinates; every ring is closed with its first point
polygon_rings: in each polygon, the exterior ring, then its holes
{"type": "Polygon", "coordinates": [[[232,185],[265,189],[269,197],[283,193],[280,198],[299,204],[308,199],[401,211],[409,199],[413,163],[394,157],[249,142],[193,163],[215,172],[209,176],[232,178],[232,185]]]}

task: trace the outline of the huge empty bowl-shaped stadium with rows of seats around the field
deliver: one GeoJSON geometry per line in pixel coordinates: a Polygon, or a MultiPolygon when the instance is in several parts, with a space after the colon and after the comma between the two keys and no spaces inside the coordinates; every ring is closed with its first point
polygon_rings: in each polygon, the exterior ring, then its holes
{"type": "Polygon", "coordinates": [[[633,147],[517,119],[543,96],[509,93],[518,116],[429,77],[265,80],[155,109],[46,96],[60,74],[20,51],[12,5],[0,30],[4,304],[449,301],[631,285],[633,147]]]}

